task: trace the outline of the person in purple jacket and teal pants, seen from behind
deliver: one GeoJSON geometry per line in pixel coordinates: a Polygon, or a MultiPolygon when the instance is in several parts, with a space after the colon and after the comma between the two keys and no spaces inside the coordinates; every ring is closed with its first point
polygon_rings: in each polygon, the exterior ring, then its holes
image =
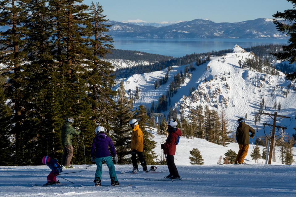
{"type": "Polygon", "coordinates": [[[101,186],[102,180],[102,162],[105,161],[106,165],[109,168],[109,175],[111,179],[111,185],[116,186],[119,185],[117,180],[117,176],[115,173],[115,167],[112,161],[112,157],[110,155],[110,151],[114,156],[115,163],[118,162],[118,157],[115,151],[115,147],[111,138],[109,138],[104,132],[105,128],[102,126],[98,126],[95,130],[97,133],[96,137],[92,141],[91,148],[91,160],[92,162],[96,162],[97,170],[95,173],[95,186],[101,186]],[[110,147],[110,151],[108,150],[108,146],[110,147]]]}

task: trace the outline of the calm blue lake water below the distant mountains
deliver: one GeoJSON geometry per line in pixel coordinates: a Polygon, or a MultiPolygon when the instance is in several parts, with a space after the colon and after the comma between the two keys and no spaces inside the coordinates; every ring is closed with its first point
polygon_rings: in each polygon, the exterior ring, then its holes
{"type": "Polygon", "coordinates": [[[242,48],[265,45],[287,44],[286,39],[154,39],[113,37],[115,49],[138,50],[147,53],[182,57],[186,54],[232,49],[236,44],[242,48]]]}

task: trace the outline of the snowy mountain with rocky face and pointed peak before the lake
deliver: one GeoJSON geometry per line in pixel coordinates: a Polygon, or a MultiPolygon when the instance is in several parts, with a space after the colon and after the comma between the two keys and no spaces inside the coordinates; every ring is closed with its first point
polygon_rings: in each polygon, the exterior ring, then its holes
{"type": "MultiPolygon", "coordinates": [[[[261,115],[260,123],[255,125],[254,117],[259,112],[259,104],[262,98],[265,100],[265,113],[274,114],[277,109],[273,108],[274,103],[281,103],[281,111],[278,115],[291,117],[290,119],[280,119],[277,125],[286,126],[286,133],[291,136],[295,133],[293,127],[296,126],[295,108],[296,108],[296,86],[295,83],[285,80],[284,74],[280,72],[279,76],[265,74],[242,69],[239,66],[239,60],[242,62],[246,58],[253,58],[252,52],[245,52],[241,47],[235,46],[232,53],[224,54],[224,56],[211,57],[209,62],[200,66],[195,66],[196,70],[191,72],[191,78],[186,78],[185,83],[181,85],[177,93],[171,98],[171,106],[177,111],[184,111],[185,115],[189,113],[190,107],[202,105],[209,106],[210,109],[221,111],[224,110],[229,119],[228,130],[235,131],[237,127],[236,120],[247,114],[247,124],[256,129],[258,126],[257,136],[269,134],[271,128],[263,128],[262,123],[272,124],[272,119],[268,115],[261,115]],[[224,59],[223,59],[224,58],[224,59]],[[224,62],[223,62],[224,61],[224,62]],[[205,82],[205,78],[207,82],[205,82]],[[222,80],[226,78],[225,80],[222,80]],[[227,84],[226,84],[227,83],[227,84]],[[227,88],[227,85],[229,88],[227,88]],[[195,91],[189,95],[189,89],[195,87],[195,91]],[[287,98],[284,93],[289,91],[287,98]]],[[[126,96],[128,90],[135,93],[136,86],[140,88],[139,99],[134,103],[134,107],[143,104],[151,107],[151,103],[157,105],[158,98],[166,95],[169,84],[173,81],[174,75],[184,71],[183,66],[173,66],[169,72],[169,80],[166,84],[154,90],[154,82],[159,78],[163,78],[167,73],[167,69],[145,73],[134,74],[124,79],[126,96]]],[[[118,89],[118,86],[115,87],[118,89]]],[[[168,111],[163,112],[165,114],[168,111]]]]}

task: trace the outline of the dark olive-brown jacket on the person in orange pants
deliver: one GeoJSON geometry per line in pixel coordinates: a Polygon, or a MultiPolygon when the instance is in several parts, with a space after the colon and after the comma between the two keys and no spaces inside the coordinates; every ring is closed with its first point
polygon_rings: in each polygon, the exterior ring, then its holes
{"type": "Polygon", "coordinates": [[[236,128],[236,141],[238,144],[250,144],[249,132],[255,135],[255,130],[244,122],[240,123],[236,128]]]}

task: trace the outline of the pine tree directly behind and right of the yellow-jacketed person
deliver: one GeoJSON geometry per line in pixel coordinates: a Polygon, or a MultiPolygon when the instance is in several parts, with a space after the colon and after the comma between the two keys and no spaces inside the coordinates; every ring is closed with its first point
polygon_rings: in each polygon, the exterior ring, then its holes
{"type": "Polygon", "coordinates": [[[150,132],[146,131],[146,124],[148,122],[149,117],[147,116],[146,108],[143,105],[139,106],[139,109],[134,111],[134,118],[138,119],[139,128],[143,132],[143,155],[148,165],[154,164],[154,159],[156,158],[156,154],[153,149],[156,147],[156,142],[153,140],[153,135],[150,132]]]}

